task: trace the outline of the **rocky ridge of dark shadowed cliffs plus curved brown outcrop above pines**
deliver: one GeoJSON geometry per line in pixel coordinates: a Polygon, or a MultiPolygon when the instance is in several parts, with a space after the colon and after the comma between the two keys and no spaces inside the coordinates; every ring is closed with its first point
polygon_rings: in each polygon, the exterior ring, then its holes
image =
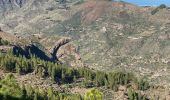
{"type": "Polygon", "coordinates": [[[69,44],[70,41],[71,39],[69,38],[60,39],[55,43],[55,46],[51,48],[50,51],[44,51],[40,49],[35,43],[25,46],[14,45],[13,53],[17,56],[25,56],[28,59],[31,57],[31,55],[34,55],[45,61],[57,63],[69,62],[69,65],[71,66],[83,66],[81,57],[76,52],[76,47],[73,44],[69,44]],[[66,57],[68,58],[69,56],[74,56],[74,59],[70,61],[65,61],[65,59],[63,59],[66,57]]]}

